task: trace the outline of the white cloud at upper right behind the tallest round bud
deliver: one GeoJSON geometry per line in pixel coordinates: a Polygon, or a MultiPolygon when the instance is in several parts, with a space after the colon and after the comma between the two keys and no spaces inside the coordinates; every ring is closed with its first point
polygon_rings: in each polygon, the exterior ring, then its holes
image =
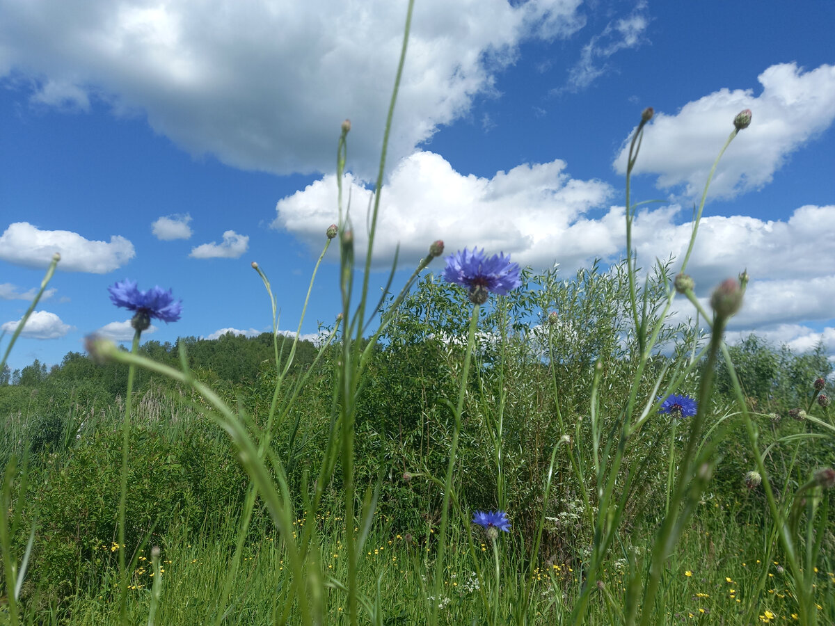
{"type": "MultiPolygon", "coordinates": [[[[686,103],[675,115],[656,113],[645,130],[635,174],[655,174],[660,189],[701,194],[733,119],[751,109],[748,129],[734,139],[711,183],[711,195],[731,198],[771,181],[794,150],[835,119],[835,66],[804,72],[795,63],[772,65],[758,77],[762,93],[721,89],[686,103]]],[[[631,134],[615,159],[626,170],[631,134]]]]}

